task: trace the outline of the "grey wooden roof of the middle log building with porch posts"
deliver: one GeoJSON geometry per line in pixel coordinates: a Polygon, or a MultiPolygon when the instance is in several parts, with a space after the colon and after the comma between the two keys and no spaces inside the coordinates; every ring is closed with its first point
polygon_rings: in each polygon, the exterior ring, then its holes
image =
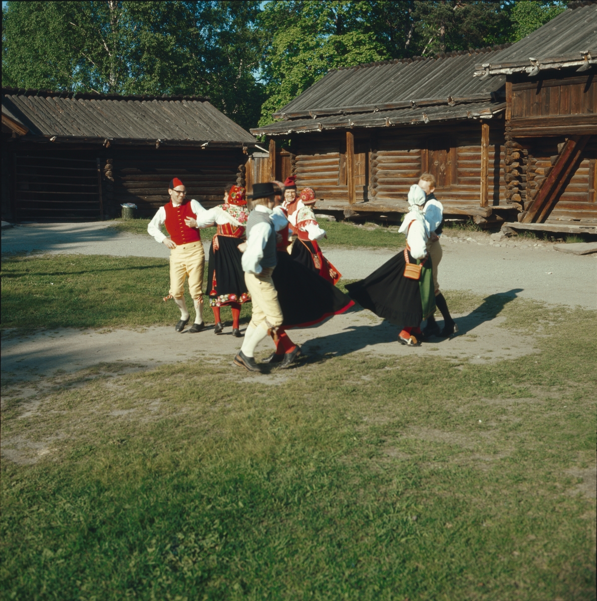
{"type": "Polygon", "coordinates": [[[333,70],[273,115],[283,121],[251,132],[287,135],[334,127],[427,123],[479,117],[482,111],[491,117],[503,109],[506,78],[481,81],[473,77],[474,65],[480,54],[491,58],[506,47],[333,70]]]}

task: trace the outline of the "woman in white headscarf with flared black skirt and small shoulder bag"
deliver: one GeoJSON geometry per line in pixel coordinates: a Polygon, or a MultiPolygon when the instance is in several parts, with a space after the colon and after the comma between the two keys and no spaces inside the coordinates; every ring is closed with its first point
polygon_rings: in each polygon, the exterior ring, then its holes
{"type": "Polygon", "coordinates": [[[425,193],[416,184],[408,192],[408,204],[410,210],[399,230],[406,234],[406,248],[346,289],[362,307],[398,326],[400,343],[418,346],[415,334],[420,334],[421,321],[434,313],[435,294],[426,248],[425,193]]]}

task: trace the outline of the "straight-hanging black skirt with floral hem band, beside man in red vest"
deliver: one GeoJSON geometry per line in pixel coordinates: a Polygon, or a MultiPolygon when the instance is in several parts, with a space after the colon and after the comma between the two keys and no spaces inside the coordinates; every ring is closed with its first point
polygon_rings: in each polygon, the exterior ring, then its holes
{"type": "Polygon", "coordinates": [[[209,269],[207,270],[207,294],[212,307],[243,303],[251,300],[245,284],[245,273],[240,259],[242,253],[237,246],[240,238],[218,236],[218,250],[209,247],[209,269]]]}

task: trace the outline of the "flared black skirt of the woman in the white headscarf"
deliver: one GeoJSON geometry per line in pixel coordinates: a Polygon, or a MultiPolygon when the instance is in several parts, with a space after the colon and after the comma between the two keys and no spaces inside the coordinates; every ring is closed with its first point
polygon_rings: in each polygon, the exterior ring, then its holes
{"type": "MultiPolygon", "coordinates": [[[[417,261],[408,254],[411,263],[417,261]]],[[[416,328],[423,320],[423,305],[418,281],[403,275],[404,251],[386,261],[379,269],[354,284],[347,284],[351,298],[362,307],[399,328],[416,328]]]]}

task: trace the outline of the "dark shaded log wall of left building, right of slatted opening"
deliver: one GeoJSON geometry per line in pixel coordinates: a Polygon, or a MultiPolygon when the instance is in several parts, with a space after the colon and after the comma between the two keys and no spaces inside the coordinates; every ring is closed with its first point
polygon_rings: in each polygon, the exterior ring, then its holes
{"type": "Polygon", "coordinates": [[[151,216],[168,201],[168,183],[179,177],[188,198],[209,208],[221,203],[228,183],[245,185],[241,150],[159,150],[114,152],[114,203],[135,203],[139,216],[151,216]]]}

